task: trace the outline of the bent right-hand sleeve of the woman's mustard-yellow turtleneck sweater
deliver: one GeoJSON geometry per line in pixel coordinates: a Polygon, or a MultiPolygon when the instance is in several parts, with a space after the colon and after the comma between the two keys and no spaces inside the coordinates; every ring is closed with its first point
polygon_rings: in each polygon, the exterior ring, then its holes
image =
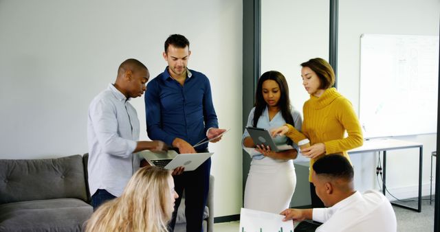
{"type": "Polygon", "coordinates": [[[358,148],[364,143],[360,123],[353,110],[353,106],[351,106],[349,100],[345,98],[341,98],[338,101],[338,113],[336,117],[338,117],[338,121],[340,121],[345,130],[347,130],[348,137],[325,141],[325,152],[327,154],[340,153],[358,148]]]}

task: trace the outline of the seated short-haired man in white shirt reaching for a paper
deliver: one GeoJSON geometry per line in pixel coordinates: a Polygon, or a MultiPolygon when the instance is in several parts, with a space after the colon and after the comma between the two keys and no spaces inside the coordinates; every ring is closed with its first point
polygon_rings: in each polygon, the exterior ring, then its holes
{"type": "Polygon", "coordinates": [[[328,208],[286,209],[284,220],[323,222],[318,232],[395,232],[397,222],[388,199],[373,190],[354,189],[353,167],[344,156],[329,154],[314,163],[312,181],[316,194],[328,208]]]}

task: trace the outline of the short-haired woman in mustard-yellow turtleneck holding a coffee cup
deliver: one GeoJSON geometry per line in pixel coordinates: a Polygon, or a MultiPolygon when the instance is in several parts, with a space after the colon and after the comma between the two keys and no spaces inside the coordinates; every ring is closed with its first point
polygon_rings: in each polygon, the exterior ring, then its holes
{"type": "MultiPolygon", "coordinates": [[[[298,143],[309,139],[311,146],[301,153],[310,158],[310,174],[313,164],[325,154],[342,154],[350,160],[347,150],[362,146],[362,130],[351,102],[331,86],[335,83],[335,73],[331,65],[322,58],[310,59],[301,64],[303,85],[310,99],[303,106],[303,132],[285,124],[272,130],[272,135],[286,135],[298,143]],[[347,130],[348,137],[344,137],[347,130]]],[[[314,208],[324,207],[310,183],[311,203],[314,208]]]]}

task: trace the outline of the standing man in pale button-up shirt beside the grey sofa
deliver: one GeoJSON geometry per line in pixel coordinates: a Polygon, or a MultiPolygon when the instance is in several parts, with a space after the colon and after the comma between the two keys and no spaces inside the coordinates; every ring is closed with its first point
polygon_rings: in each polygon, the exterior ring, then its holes
{"type": "Polygon", "coordinates": [[[94,209],[122,194],[126,183],[140,167],[140,159],[134,152],[165,148],[162,141],[137,141],[140,124],[129,100],[142,96],[148,78],[150,73],[142,62],[125,60],[118,69],[115,84],[109,84],[90,103],[88,171],[94,209]]]}

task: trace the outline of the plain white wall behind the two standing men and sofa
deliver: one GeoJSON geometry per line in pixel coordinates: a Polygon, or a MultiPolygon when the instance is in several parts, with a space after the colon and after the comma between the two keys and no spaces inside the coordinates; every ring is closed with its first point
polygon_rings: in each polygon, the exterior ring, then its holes
{"type": "MultiPolygon", "coordinates": [[[[0,159],[87,152],[87,108],[137,58],[151,78],[166,67],[169,34],[184,34],[188,67],[206,73],[221,128],[210,149],[214,213],[241,207],[241,1],[0,1],[0,159]]],[[[144,100],[132,101],[145,131],[144,100]]]]}

